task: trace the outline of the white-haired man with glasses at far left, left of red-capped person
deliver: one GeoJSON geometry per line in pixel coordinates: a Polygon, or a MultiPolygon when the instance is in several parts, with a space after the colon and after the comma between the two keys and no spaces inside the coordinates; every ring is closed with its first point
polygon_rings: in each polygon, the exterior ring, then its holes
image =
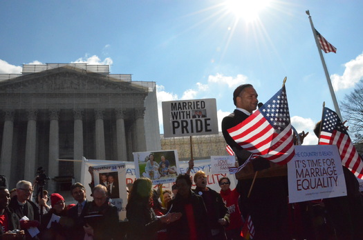
{"type": "MultiPolygon", "coordinates": [[[[20,221],[22,230],[27,230],[31,227],[39,226],[39,209],[37,205],[30,201],[32,196],[32,183],[30,181],[21,180],[17,183],[17,195],[12,197],[9,203],[9,208],[17,214],[19,219],[26,216],[29,220],[20,221]]],[[[26,239],[38,239],[37,236],[31,237],[28,231],[26,239]]]]}

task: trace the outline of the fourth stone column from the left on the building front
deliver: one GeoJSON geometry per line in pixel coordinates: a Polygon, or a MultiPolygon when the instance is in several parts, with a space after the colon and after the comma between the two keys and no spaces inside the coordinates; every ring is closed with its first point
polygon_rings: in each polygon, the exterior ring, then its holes
{"type": "MultiPolygon", "coordinates": [[[[75,126],[74,126],[74,152],[73,152],[73,159],[75,160],[82,160],[83,157],[83,111],[82,110],[73,110],[73,117],[75,119],[75,126]]],[[[81,181],[81,168],[82,162],[74,161],[74,177],[75,181],[81,181]]]]}

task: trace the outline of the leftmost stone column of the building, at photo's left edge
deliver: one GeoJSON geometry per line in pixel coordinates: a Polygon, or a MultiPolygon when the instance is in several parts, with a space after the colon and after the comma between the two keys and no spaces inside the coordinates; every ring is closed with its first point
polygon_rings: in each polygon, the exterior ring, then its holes
{"type": "Polygon", "coordinates": [[[11,153],[12,153],[12,134],[14,132],[13,110],[6,110],[5,122],[3,124],[3,146],[1,146],[0,174],[6,176],[10,181],[11,174],[11,153]]]}

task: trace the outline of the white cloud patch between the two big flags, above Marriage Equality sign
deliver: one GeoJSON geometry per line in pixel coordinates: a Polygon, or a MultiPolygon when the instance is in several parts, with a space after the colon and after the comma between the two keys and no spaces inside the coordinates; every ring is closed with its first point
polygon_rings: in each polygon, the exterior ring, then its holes
{"type": "Polygon", "coordinates": [[[317,137],[314,134],[316,123],[313,119],[304,119],[304,117],[294,116],[291,117],[291,124],[297,132],[309,132],[308,136],[304,139],[303,145],[317,145],[317,137]]]}

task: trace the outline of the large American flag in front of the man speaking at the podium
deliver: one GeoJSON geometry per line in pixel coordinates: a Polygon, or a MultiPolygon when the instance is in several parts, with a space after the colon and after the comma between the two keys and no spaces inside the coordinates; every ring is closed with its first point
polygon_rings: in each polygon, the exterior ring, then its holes
{"type": "Polygon", "coordinates": [[[245,121],[227,130],[243,149],[274,163],[295,155],[285,85],[245,121]]]}

